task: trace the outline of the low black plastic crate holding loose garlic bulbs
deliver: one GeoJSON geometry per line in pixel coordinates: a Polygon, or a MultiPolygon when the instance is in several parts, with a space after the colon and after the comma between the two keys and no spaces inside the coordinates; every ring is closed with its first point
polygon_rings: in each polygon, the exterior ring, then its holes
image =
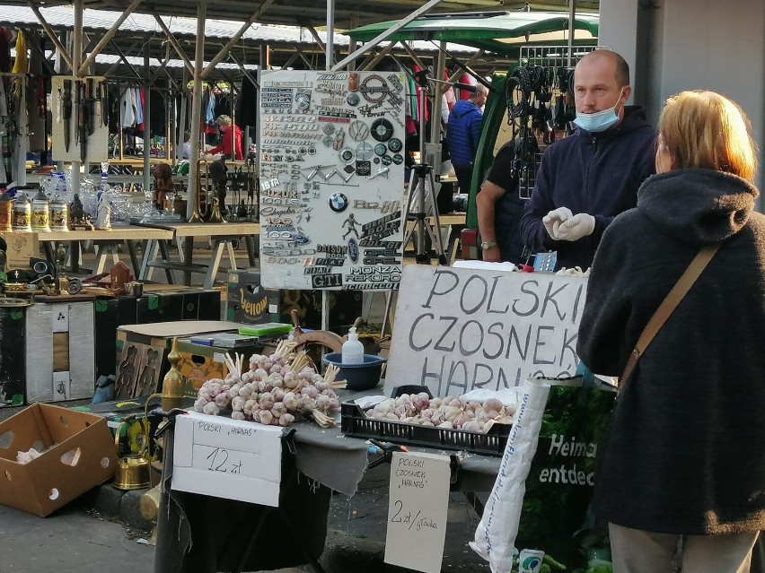
{"type": "MultiPolygon", "coordinates": [[[[400,386],[394,389],[393,397],[426,391],[425,386],[400,386]]],[[[513,428],[508,424],[497,423],[488,433],[482,434],[418,426],[403,421],[375,420],[367,418],[353,401],[340,404],[340,414],[340,429],[347,436],[354,438],[377,438],[404,446],[441,447],[488,456],[502,456],[505,453],[507,438],[513,428]]]]}

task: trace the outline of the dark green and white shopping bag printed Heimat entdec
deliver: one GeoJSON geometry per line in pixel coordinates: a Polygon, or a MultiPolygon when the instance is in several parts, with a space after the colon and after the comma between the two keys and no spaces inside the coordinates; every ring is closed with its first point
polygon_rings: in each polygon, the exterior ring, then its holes
{"type": "Polygon", "coordinates": [[[585,567],[598,444],[616,388],[587,371],[574,378],[528,378],[520,396],[470,546],[496,572],[539,570],[518,563],[523,550],[543,551],[549,562],[551,557],[562,565],[560,571],[585,567]]]}

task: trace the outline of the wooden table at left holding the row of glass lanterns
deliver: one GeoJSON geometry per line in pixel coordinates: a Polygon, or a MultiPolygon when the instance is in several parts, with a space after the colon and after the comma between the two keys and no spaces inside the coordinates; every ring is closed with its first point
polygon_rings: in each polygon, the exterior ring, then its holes
{"type": "Polygon", "coordinates": [[[138,275],[140,265],[136,256],[135,241],[172,239],[172,231],[163,229],[147,229],[136,225],[125,225],[114,227],[112,229],[88,229],[88,230],[51,230],[50,232],[37,233],[38,240],[42,243],[45,256],[48,261],[56,265],[56,243],[59,241],[68,241],[71,244],[71,268],[75,273],[79,271],[79,242],[92,240],[96,245],[98,254],[96,256],[96,268],[94,274],[104,272],[108,256],[117,263],[119,255],[117,246],[120,243],[127,243],[130,262],[133,266],[134,276],[138,275]]]}

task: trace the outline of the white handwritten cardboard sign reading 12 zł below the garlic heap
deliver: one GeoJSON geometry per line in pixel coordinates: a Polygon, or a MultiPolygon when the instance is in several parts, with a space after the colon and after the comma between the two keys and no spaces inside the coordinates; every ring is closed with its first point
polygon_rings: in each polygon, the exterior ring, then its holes
{"type": "Polygon", "coordinates": [[[278,507],[282,430],[189,412],[178,416],[172,489],[278,507]]]}

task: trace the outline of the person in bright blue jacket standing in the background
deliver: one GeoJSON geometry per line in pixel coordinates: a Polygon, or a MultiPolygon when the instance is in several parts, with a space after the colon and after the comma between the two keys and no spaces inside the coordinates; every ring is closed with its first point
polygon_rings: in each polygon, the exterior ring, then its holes
{"type": "Polygon", "coordinates": [[[486,87],[479,83],[475,93],[470,94],[470,99],[459,100],[449,114],[446,140],[460,193],[470,193],[473,162],[480,141],[480,122],[483,119],[481,108],[486,103],[487,93],[486,87]]]}

